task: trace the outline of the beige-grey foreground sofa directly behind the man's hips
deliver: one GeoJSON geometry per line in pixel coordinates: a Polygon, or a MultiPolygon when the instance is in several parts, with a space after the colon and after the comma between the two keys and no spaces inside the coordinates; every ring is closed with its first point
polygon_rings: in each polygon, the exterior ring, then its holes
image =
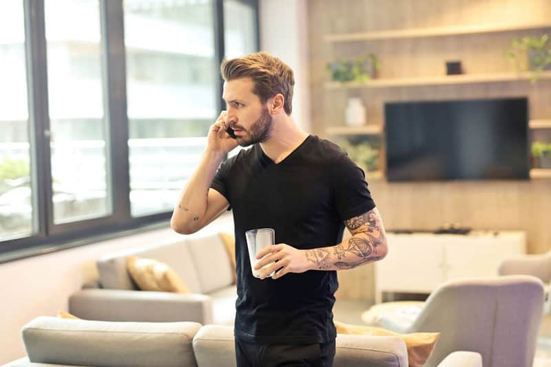
{"type": "MultiPolygon", "coordinates": [[[[196,322],[102,322],[37,317],[23,327],[28,357],[8,367],[234,367],[231,326],[196,322]]],[[[399,337],[338,335],[335,367],[407,367],[399,337]]],[[[482,367],[478,353],[451,353],[438,367],[482,367]]]]}

